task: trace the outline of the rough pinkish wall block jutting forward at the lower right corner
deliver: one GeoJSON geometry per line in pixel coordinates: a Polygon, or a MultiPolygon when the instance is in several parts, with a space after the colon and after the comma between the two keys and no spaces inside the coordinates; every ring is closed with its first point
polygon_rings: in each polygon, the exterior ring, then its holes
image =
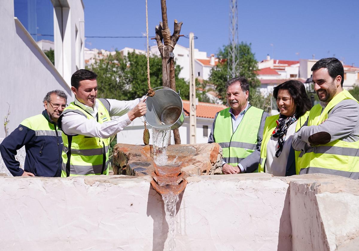
{"type": "Polygon", "coordinates": [[[359,183],[308,174],[290,182],[290,218],[295,250],[350,250],[359,244],[359,183]]]}

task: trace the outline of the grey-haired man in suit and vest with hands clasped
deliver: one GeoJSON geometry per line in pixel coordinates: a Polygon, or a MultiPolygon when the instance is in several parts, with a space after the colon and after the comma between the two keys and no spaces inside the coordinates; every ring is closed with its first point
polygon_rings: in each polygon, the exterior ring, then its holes
{"type": "Polygon", "coordinates": [[[208,143],[222,147],[224,174],[253,172],[260,161],[268,113],[249,104],[249,84],[244,77],[230,79],[225,87],[230,108],[215,115],[208,143]]]}

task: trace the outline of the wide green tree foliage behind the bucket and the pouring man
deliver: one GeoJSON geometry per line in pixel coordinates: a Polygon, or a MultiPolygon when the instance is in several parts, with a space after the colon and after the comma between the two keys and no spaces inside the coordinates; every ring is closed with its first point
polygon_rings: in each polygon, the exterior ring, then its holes
{"type": "MultiPolygon", "coordinates": [[[[87,67],[95,72],[98,84],[98,97],[118,100],[132,100],[147,93],[147,57],[129,53],[123,56],[121,52],[109,55],[87,67]]],[[[178,74],[181,67],[176,65],[176,89],[180,90],[182,99],[189,99],[188,83],[178,74]]],[[[151,87],[162,86],[162,59],[150,57],[151,87]]]]}

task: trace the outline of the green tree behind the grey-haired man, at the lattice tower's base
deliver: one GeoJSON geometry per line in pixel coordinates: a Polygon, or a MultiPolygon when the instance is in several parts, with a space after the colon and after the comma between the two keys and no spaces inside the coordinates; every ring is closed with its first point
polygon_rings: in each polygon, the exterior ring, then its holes
{"type": "MultiPolygon", "coordinates": [[[[226,100],[226,89],[225,83],[228,80],[228,48],[229,45],[223,46],[222,49],[219,49],[217,57],[219,58],[219,63],[211,70],[210,82],[216,86],[216,91],[222,97],[223,103],[227,103],[226,100]]],[[[238,68],[236,72],[239,72],[238,76],[245,77],[250,84],[250,98],[249,101],[251,105],[254,105],[258,108],[269,110],[270,109],[270,99],[271,95],[264,97],[259,92],[258,87],[260,86],[260,81],[257,78],[256,71],[258,70],[257,60],[255,58],[255,53],[252,52],[251,44],[243,43],[237,44],[237,55],[238,55],[238,68]]]]}

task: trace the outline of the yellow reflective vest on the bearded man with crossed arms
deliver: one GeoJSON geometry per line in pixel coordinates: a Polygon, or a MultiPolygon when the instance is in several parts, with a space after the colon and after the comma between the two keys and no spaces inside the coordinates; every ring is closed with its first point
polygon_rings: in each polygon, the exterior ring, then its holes
{"type": "MultiPolygon", "coordinates": [[[[327,104],[323,112],[319,104],[313,106],[309,113],[308,126],[318,126],[323,123],[332,108],[345,99],[353,99],[358,102],[348,91],[341,91],[327,104]]],[[[358,179],[358,149],[359,141],[345,142],[340,139],[325,145],[312,146],[305,153],[300,153],[298,172],[299,174],[332,174],[358,179]]]]}

